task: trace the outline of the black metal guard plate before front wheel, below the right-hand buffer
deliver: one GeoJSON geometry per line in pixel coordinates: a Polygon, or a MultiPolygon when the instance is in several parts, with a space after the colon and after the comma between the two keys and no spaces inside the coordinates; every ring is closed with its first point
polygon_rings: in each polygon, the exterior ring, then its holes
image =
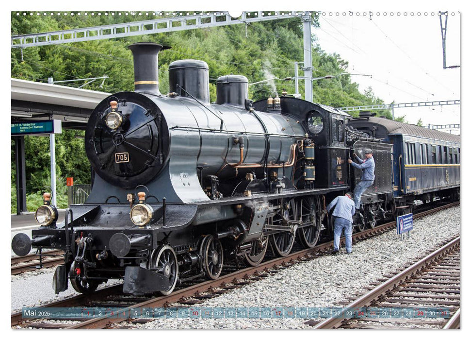
{"type": "Polygon", "coordinates": [[[170,281],[165,275],[142,267],[126,267],[123,293],[144,295],[168,289],[170,289],[170,281]]]}

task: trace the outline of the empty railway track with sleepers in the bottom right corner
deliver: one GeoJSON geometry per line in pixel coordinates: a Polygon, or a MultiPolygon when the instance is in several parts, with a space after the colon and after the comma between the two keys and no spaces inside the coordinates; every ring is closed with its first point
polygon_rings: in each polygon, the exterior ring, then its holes
{"type": "Polygon", "coordinates": [[[460,238],[457,237],[403,271],[390,275],[345,307],[358,312],[325,319],[314,328],[459,328],[459,252],[460,238]],[[364,309],[366,307],[373,308],[364,309]],[[388,308],[394,308],[396,316],[384,314],[388,308]],[[433,314],[428,315],[429,308],[436,308],[439,314],[431,311],[433,314]],[[372,315],[367,310],[371,310],[372,315]],[[377,315],[377,311],[383,314],[377,315]],[[444,321],[436,319],[448,318],[447,313],[453,317],[444,321]]]}

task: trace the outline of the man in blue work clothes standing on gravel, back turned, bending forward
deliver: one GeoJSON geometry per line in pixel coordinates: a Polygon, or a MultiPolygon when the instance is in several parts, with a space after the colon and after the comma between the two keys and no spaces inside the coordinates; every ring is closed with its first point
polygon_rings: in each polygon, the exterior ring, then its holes
{"type": "Polygon", "coordinates": [[[332,216],[334,217],[334,251],[337,254],[340,251],[340,236],[342,230],[345,234],[345,248],[347,254],[352,253],[352,216],[355,215],[355,204],[352,201],[352,194],[347,192],[345,196],[337,196],[325,208],[330,211],[335,205],[332,216]]]}

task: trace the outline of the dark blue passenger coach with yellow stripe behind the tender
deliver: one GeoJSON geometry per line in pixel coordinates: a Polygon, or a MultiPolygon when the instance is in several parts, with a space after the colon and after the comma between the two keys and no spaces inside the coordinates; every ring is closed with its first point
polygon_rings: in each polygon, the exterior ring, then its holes
{"type": "Polygon", "coordinates": [[[460,137],[361,113],[349,126],[393,144],[392,187],[410,204],[459,195],[460,137]]]}

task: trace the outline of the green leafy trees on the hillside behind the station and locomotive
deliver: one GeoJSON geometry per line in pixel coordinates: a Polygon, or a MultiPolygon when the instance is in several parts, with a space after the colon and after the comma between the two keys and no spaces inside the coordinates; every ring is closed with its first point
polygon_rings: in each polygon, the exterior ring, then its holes
{"type": "MultiPolygon", "coordinates": [[[[16,16],[11,15],[11,34],[48,32],[62,29],[98,26],[136,20],[131,16],[16,16]]],[[[150,17],[149,17],[150,18],[150,17]]],[[[318,26],[317,22],[314,22],[318,26]]],[[[315,33],[315,30],[314,30],[315,33]]],[[[229,25],[211,29],[195,29],[168,34],[152,34],[119,39],[104,39],[74,44],[55,44],[43,47],[12,49],[12,77],[47,82],[48,77],[55,81],[107,75],[102,87],[101,81],[83,88],[104,92],[133,90],[132,55],[127,49],[131,43],[152,41],[171,46],[159,55],[159,83],[162,93],[168,91],[168,65],[179,59],[200,59],[210,68],[210,95],[215,100],[217,77],[229,73],[243,74],[249,82],[267,78],[284,79],[294,76],[294,61],[302,61],[303,33],[299,18],[278,21],[264,21],[249,25],[229,25]]],[[[313,43],[314,77],[339,75],[348,72],[348,62],[338,54],[327,54],[321,46],[313,43]]],[[[300,75],[302,71],[300,70],[300,75]]],[[[69,83],[80,86],[85,82],[69,83]]],[[[254,101],[285,88],[294,92],[293,81],[265,82],[249,87],[249,96],[254,101]]],[[[304,81],[299,82],[299,90],[304,95],[304,81]]],[[[314,82],[314,101],[334,107],[379,104],[383,101],[374,96],[371,89],[361,93],[358,84],[352,83],[350,76],[342,75],[330,80],[314,82]]],[[[354,113],[356,115],[357,113],[354,113]]],[[[379,115],[391,117],[388,110],[379,115]]],[[[83,132],[64,131],[56,136],[57,175],[63,181],[73,176],[76,183],[89,183],[90,164],[86,159],[83,132]]],[[[29,176],[27,192],[36,193],[49,183],[49,141],[46,138],[26,137],[26,171],[29,176]]],[[[14,188],[14,143],[12,141],[12,188],[14,188]]],[[[64,195],[65,193],[60,193],[64,195]]],[[[13,203],[13,201],[12,201],[13,203]]]]}

